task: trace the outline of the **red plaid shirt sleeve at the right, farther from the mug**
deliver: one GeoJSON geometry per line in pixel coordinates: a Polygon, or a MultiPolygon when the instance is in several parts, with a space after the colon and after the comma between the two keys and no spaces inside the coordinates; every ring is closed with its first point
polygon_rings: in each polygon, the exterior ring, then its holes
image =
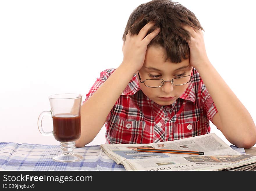
{"type": "Polygon", "coordinates": [[[204,116],[212,122],[213,117],[218,113],[218,110],[205,86],[202,84],[201,90],[201,106],[203,108],[204,116]]]}

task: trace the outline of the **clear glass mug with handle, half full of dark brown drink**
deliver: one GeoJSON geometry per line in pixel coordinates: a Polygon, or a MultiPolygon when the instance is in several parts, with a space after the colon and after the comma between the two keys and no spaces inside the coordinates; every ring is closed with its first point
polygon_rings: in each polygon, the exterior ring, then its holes
{"type": "Polygon", "coordinates": [[[61,143],[62,153],[53,158],[56,162],[77,162],[83,157],[74,153],[75,140],[81,136],[80,108],[81,94],[56,94],[49,96],[50,111],[43,111],[38,117],[38,129],[44,136],[54,135],[61,143]],[[53,131],[45,132],[42,128],[44,116],[52,117],[53,131]]]}

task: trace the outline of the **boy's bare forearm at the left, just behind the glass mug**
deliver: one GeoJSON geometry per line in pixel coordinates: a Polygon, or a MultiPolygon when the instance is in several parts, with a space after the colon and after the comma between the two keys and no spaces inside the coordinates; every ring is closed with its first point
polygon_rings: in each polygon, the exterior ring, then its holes
{"type": "Polygon", "coordinates": [[[136,71],[122,63],[81,106],[81,137],[77,147],[90,143],[106,122],[106,117],[136,71]]]}

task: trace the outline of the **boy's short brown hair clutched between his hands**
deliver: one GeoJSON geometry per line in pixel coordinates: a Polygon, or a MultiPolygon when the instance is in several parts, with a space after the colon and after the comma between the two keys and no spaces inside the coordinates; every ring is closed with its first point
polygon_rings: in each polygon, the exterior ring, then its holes
{"type": "Polygon", "coordinates": [[[153,0],[141,4],[131,13],[122,37],[123,41],[125,42],[128,31],[131,36],[137,35],[150,21],[155,21],[156,24],[147,35],[157,27],[160,28],[160,32],[148,46],[163,47],[165,61],[169,60],[172,63],[180,63],[183,59],[189,58],[189,45],[186,40],[190,41],[191,35],[181,28],[181,24],[204,31],[194,13],[178,2],[153,0]]]}

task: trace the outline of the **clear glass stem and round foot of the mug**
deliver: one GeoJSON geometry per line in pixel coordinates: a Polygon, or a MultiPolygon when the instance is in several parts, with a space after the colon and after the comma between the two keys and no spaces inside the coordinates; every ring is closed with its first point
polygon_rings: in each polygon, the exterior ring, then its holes
{"type": "Polygon", "coordinates": [[[62,153],[53,158],[56,162],[72,163],[83,160],[83,157],[75,154],[74,151],[75,142],[61,142],[62,153]]]}

